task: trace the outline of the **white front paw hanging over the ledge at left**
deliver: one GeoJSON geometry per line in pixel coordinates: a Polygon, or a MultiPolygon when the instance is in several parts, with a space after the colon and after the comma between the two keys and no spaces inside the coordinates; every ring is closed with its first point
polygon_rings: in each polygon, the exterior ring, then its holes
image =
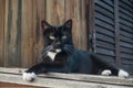
{"type": "Polygon", "coordinates": [[[27,81],[32,81],[32,80],[34,80],[35,77],[37,76],[34,73],[23,73],[22,74],[22,79],[27,80],[27,81]]]}

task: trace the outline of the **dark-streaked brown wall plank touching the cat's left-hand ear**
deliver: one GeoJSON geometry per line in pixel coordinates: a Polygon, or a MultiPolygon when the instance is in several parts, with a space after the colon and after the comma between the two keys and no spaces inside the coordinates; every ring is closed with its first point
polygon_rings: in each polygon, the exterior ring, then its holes
{"type": "Polygon", "coordinates": [[[45,0],[33,0],[33,64],[37,63],[43,47],[41,21],[45,19],[45,0]]]}

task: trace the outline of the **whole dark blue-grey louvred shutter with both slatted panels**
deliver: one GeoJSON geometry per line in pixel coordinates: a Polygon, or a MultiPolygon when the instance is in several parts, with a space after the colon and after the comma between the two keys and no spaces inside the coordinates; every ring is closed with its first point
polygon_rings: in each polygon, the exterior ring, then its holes
{"type": "Polygon", "coordinates": [[[94,0],[94,52],[133,73],[133,1],[94,0]]]}

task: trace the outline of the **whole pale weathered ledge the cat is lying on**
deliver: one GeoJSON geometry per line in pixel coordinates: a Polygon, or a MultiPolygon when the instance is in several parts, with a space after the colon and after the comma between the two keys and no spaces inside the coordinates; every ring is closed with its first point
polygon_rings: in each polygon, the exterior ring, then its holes
{"type": "Polygon", "coordinates": [[[33,82],[22,80],[23,68],[0,67],[0,86],[13,84],[19,87],[50,87],[50,88],[133,88],[133,78],[119,78],[83,74],[50,73],[39,75],[33,82]]]}

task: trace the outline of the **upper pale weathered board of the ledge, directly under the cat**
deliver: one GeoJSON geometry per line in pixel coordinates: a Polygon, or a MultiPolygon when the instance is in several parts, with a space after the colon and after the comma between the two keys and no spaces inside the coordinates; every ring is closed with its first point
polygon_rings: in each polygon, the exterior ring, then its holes
{"type": "MultiPolygon", "coordinates": [[[[21,75],[24,70],[25,69],[23,69],[23,68],[3,68],[3,67],[0,67],[1,74],[21,75]]],[[[124,86],[129,86],[129,87],[133,86],[133,78],[119,78],[119,77],[114,77],[114,76],[49,73],[45,75],[39,75],[39,78],[44,78],[44,79],[45,78],[53,78],[53,79],[64,79],[64,80],[106,84],[106,85],[121,85],[121,86],[124,85],[124,86]]]]}

